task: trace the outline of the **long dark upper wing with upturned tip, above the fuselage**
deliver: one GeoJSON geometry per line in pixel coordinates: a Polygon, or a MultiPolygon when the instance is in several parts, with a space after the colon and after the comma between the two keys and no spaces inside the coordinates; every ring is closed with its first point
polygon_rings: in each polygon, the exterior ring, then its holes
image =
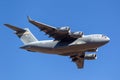
{"type": "Polygon", "coordinates": [[[28,17],[30,23],[38,27],[41,31],[44,31],[49,37],[53,37],[55,40],[70,40],[75,39],[69,35],[69,31],[59,30],[55,27],[34,21],[28,17]]]}

